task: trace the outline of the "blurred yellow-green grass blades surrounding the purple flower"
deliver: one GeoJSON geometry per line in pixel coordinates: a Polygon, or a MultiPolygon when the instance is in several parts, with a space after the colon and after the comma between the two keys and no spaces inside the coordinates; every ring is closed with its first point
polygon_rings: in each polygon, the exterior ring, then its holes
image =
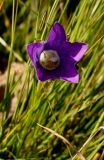
{"type": "Polygon", "coordinates": [[[0,100],[1,159],[104,158],[104,2],[74,3],[0,0],[0,63],[3,57],[8,63],[0,100]],[[26,53],[27,43],[47,39],[55,21],[69,41],[89,45],[77,64],[78,84],[38,82],[26,53]],[[13,71],[17,65],[19,73],[13,71]]]}

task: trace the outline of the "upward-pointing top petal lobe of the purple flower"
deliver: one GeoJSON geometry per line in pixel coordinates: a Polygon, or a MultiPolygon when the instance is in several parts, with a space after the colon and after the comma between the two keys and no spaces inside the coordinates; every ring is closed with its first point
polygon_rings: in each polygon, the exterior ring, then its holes
{"type": "Polygon", "coordinates": [[[48,41],[66,41],[66,34],[62,25],[56,22],[48,36],[48,41]]]}

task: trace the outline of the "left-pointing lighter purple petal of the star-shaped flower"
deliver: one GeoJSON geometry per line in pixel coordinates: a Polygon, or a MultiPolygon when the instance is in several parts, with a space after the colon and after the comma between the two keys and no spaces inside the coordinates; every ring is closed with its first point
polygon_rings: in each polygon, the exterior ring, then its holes
{"type": "Polygon", "coordinates": [[[40,53],[44,50],[44,42],[30,43],[27,45],[27,52],[32,61],[32,64],[36,67],[36,62],[39,60],[40,53]]]}

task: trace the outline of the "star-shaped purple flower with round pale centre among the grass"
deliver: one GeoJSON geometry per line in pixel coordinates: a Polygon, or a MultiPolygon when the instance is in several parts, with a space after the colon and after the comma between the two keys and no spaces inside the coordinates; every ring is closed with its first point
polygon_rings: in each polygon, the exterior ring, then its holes
{"type": "Polygon", "coordinates": [[[60,79],[78,83],[79,74],[75,64],[81,60],[88,45],[68,42],[64,28],[56,22],[45,42],[27,45],[29,57],[40,81],[60,79]]]}

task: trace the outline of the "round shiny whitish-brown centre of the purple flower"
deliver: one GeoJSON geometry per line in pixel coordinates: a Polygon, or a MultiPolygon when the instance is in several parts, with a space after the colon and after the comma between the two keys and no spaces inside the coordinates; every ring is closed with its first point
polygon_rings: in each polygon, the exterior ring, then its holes
{"type": "Polygon", "coordinates": [[[41,53],[39,62],[47,70],[54,70],[60,64],[60,58],[56,51],[45,50],[41,53]]]}

